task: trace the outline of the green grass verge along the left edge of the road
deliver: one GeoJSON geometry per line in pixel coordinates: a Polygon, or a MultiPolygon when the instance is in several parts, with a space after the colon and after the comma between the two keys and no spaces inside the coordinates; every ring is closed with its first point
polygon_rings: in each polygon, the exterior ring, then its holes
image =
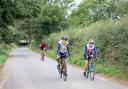
{"type": "Polygon", "coordinates": [[[0,64],[4,64],[10,51],[11,51],[10,47],[0,48],[0,64]]]}

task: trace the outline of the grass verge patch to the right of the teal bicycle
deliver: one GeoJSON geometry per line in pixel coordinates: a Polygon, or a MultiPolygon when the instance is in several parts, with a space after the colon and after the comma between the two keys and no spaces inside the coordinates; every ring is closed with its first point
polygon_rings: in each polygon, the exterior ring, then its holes
{"type": "Polygon", "coordinates": [[[109,77],[115,77],[117,79],[128,81],[128,75],[124,70],[118,68],[117,66],[107,65],[105,63],[96,63],[95,65],[96,73],[102,73],[103,75],[107,75],[109,77]]]}

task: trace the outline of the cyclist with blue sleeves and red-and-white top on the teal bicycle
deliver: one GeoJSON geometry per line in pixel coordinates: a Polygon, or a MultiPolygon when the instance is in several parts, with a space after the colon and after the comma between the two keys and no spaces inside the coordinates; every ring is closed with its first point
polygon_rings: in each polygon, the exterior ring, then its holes
{"type": "Polygon", "coordinates": [[[84,66],[84,69],[83,69],[84,76],[86,76],[86,70],[87,70],[87,67],[88,67],[88,60],[90,59],[90,55],[92,55],[92,54],[96,58],[97,50],[96,50],[96,47],[94,45],[94,40],[90,39],[84,47],[84,58],[85,58],[85,66],[84,66]]]}

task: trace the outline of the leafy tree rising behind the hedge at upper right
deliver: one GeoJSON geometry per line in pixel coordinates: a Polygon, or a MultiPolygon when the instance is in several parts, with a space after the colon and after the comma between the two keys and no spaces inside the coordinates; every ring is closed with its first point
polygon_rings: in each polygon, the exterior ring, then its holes
{"type": "Polygon", "coordinates": [[[72,25],[90,25],[96,21],[118,20],[128,14],[128,2],[120,0],[86,0],[69,17],[72,25]]]}

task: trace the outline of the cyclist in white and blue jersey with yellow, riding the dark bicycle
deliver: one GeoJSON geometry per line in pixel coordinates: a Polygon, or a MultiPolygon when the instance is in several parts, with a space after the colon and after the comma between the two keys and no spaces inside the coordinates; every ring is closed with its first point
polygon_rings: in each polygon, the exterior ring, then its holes
{"type": "MultiPolygon", "coordinates": [[[[68,56],[68,38],[65,36],[62,37],[62,39],[57,44],[57,69],[60,69],[60,61],[61,57],[64,57],[65,60],[68,56]]],[[[65,71],[67,75],[67,63],[65,61],[65,71]]]]}

